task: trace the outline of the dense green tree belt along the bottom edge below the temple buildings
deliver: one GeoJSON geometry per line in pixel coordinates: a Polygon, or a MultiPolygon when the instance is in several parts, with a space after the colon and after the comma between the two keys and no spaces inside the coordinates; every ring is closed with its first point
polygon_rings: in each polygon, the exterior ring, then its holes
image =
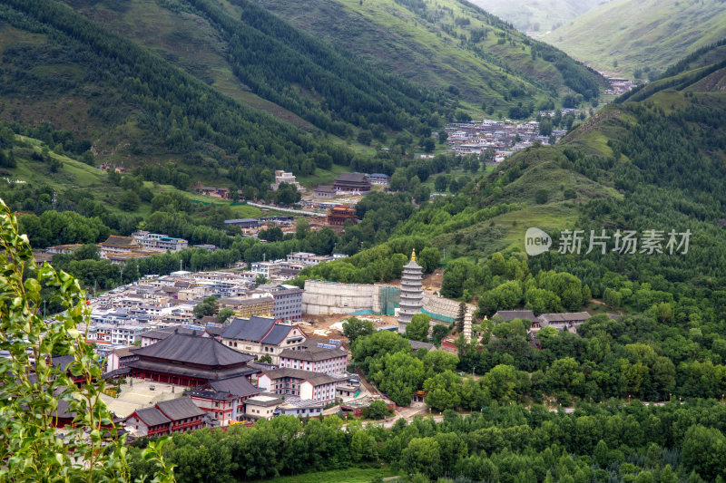
{"type": "MultiPolygon", "coordinates": [[[[390,465],[410,481],[722,481],[726,406],[715,401],[492,406],[391,429],[336,416],[260,420],[251,428],[176,435],[163,448],[180,482],[248,481],[308,471],[390,465]],[[343,427],[344,424],[347,425],[343,427]]],[[[141,440],[138,446],[143,446],[141,440]]],[[[150,463],[131,449],[132,473],[150,463]]]]}

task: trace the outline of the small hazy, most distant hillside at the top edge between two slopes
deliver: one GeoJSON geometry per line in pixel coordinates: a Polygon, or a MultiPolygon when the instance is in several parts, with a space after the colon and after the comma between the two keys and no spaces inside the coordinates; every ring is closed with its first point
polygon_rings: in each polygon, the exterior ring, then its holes
{"type": "Polygon", "coordinates": [[[602,0],[473,0],[472,3],[514,24],[523,32],[532,31],[540,35],[571,22],[602,0]]]}

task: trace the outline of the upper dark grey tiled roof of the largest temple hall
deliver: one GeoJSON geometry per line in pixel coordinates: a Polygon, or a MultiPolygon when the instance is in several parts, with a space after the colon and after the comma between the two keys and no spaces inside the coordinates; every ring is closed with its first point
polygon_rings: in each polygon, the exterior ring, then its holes
{"type": "Polygon", "coordinates": [[[206,366],[240,364],[253,359],[251,355],[238,353],[212,337],[196,337],[182,333],[173,333],[161,342],[133,349],[132,352],[140,357],[206,366]]]}

